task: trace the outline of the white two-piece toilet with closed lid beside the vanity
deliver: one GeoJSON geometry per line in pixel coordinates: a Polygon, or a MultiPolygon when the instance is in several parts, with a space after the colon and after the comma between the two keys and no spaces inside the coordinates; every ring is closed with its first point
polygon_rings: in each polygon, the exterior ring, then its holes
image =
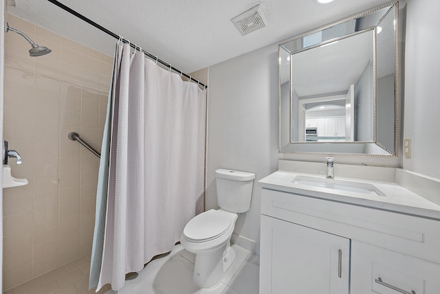
{"type": "Polygon", "coordinates": [[[217,284],[235,259],[230,247],[238,214],[250,208],[255,174],[237,170],[216,170],[219,210],[208,210],[192,218],[180,243],[195,253],[192,282],[199,288],[217,284]]]}

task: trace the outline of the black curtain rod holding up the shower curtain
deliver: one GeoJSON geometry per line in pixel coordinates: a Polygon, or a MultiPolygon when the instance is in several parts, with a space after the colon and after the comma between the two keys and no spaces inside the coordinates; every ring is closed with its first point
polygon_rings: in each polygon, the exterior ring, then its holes
{"type": "MultiPolygon", "coordinates": [[[[91,19],[87,19],[87,17],[85,17],[83,14],[80,14],[78,12],[76,12],[75,10],[73,10],[72,8],[67,7],[66,5],[64,5],[63,3],[60,3],[56,0],[47,0],[50,3],[53,3],[55,5],[57,5],[59,8],[69,12],[70,14],[73,14],[74,16],[78,17],[78,19],[82,19],[83,21],[85,21],[86,23],[89,23],[90,25],[93,25],[94,27],[96,27],[97,29],[101,30],[102,32],[109,34],[110,36],[112,36],[113,38],[117,38],[120,39],[121,37],[109,30],[107,30],[105,27],[102,27],[101,25],[98,25],[98,23],[95,23],[94,21],[92,21],[91,19]]],[[[197,84],[199,84],[201,87],[203,87],[203,89],[208,88],[207,85],[202,84],[199,80],[196,80],[195,78],[192,78],[191,76],[189,76],[188,74],[185,74],[183,71],[176,69],[175,67],[172,67],[171,65],[169,65],[168,63],[164,62],[163,60],[160,60],[159,58],[157,58],[157,56],[154,56],[153,54],[150,54],[148,52],[146,52],[144,49],[141,49],[139,46],[131,43],[130,41],[122,38],[122,41],[125,43],[129,43],[131,47],[133,47],[134,49],[138,49],[138,50],[142,50],[142,52],[144,52],[144,54],[146,54],[146,56],[148,56],[151,59],[157,60],[157,62],[161,63],[162,65],[164,65],[165,67],[168,67],[170,69],[173,69],[173,71],[176,71],[177,73],[180,73],[182,76],[186,76],[186,78],[197,82],[197,84]]]]}

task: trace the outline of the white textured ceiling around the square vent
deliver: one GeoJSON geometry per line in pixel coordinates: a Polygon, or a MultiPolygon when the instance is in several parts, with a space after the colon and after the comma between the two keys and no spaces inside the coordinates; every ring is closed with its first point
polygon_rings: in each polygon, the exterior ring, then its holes
{"type": "MultiPolygon", "coordinates": [[[[47,0],[8,0],[8,12],[113,55],[115,39],[47,0]]],[[[383,0],[60,0],[186,73],[279,43],[383,0]],[[261,4],[269,24],[242,36],[231,19],[261,4]]],[[[17,27],[17,29],[20,29],[17,27]]]]}

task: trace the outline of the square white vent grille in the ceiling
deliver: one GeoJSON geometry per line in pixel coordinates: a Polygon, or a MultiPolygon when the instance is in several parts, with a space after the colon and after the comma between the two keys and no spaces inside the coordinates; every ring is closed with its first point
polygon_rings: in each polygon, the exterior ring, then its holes
{"type": "Polygon", "coordinates": [[[231,19],[231,21],[235,24],[236,28],[239,29],[243,36],[267,25],[267,17],[264,14],[263,8],[261,8],[260,4],[254,6],[248,11],[243,12],[242,14],[235,16],[233,19],[231,19]]]}

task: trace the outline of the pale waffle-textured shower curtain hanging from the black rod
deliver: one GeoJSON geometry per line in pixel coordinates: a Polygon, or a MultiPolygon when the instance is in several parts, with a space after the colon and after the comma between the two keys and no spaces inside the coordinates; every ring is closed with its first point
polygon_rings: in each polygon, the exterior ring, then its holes
{"type": "Polygon", "coordinates": [[[203,211],[205,125],[206,90],[118,42],[90,288],[109,283],[120,289],[126,273],[170,251],[186,223],[203,211]]]}

